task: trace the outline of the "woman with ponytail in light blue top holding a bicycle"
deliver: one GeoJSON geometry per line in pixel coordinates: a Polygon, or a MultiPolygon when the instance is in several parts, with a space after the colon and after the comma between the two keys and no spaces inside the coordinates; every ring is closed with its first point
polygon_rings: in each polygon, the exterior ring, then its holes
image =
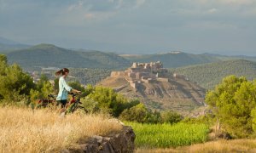
{"type": "Polygon", "coordinates": [[[75,92],[75,93],[80,93],[79,90],[76,90],[74,88],[71,88],[70,86],[67,85],[66,82],[66,77],[69,73],[69,70],[67,68],[63,68],[60,71],[56,71],[55,75],[59,76],[62,75],[59,79],[59,94],[56,98],[57,103],[60,104],[61,103],[61,108],[65,108],[65,106],[67,105],[67,94],[68,92],[75,92]]]}

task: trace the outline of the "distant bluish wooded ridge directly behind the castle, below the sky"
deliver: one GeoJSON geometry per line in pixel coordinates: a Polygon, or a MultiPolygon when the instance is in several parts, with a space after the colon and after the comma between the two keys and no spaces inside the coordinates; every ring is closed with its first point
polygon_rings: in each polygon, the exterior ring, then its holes
{"type": "Polygon", "coordinates": [[[181,67],[185,65],[196,65],[221,61],[217,57],[205,54],[187,54],[183,52],[171,52],[166,54],[143,54],[143,55],[122,55],[131,62],[161,61],[165,67],[181,67]]]}

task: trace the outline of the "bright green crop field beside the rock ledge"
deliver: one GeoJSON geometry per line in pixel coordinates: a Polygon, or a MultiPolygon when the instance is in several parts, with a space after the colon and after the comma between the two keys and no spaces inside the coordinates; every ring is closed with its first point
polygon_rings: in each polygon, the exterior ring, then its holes
{"type": "Polygon", "coordinates": [[[142,124],[125,122],[135,134],[136,147],[169,148],[207,141],[209,127],[205,124],[142,124]]]}

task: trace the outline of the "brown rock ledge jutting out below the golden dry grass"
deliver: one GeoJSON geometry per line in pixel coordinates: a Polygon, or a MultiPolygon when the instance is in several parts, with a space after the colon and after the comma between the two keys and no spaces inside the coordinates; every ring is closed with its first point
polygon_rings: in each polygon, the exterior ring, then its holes
{"type": "Polygon", "coordinates": [[[135,133],[131,127],[123,126],[120,133],[113,133],[106,137],[93,136],[80,144],[79,149],[63,150],[62,152],[86,152],[86,153],[119,153],[134,152],[135,133]]]}

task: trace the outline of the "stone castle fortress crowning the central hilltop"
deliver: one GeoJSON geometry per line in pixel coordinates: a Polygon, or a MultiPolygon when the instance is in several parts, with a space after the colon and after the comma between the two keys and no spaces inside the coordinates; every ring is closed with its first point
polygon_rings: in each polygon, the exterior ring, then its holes
{"type": "Polygon", "coordinates": [[[137,88],[142,82],[169,82],[167,69],[160,61],[150,63],[134,62],[126,71],[112,71],[110,77],[125,77],[132,88],[137,88]]]}

